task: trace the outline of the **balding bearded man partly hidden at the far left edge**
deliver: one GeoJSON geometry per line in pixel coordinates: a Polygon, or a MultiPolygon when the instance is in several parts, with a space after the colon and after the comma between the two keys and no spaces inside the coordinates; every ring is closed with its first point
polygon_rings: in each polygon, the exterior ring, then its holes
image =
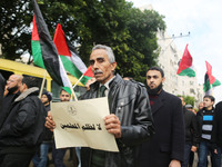
{"type": "Polygon", "coordinates": [[[22,76],[20,75],[11,75],[7,80],[7,90],[8,94],[2,99],[2,110],[0,112],[0,128],[2,126],[3,120],[6,119],[12,102],[20,95],[19,88],[21,87],[22,76]]]}

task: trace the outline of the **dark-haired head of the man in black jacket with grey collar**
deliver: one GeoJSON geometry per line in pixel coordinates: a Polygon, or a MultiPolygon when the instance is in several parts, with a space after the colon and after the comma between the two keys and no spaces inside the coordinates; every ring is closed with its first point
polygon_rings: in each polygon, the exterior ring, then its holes
{"type": "Polygon", "coordinates": [[[29,88],[38,87],[38,86],[39,86],[39,82],[38,82],[38,80],[36,78],[33,78],[33,77],[23,77],[19,91],[23,92],[29,88]]]}

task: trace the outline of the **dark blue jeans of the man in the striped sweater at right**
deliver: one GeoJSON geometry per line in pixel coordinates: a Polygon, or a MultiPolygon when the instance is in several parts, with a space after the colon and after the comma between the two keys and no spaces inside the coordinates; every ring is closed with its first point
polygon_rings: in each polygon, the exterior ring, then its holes
{"type": "Polygon", "coordinates": [[[221,149],[218,149],[218,154],[214,154],[214,149],[211,147],[211,143],[201,141],[199,147],[199,163],[198,167],[206,167],[208,153],[211,154],[212,167],[221,167],[221,149]]]}

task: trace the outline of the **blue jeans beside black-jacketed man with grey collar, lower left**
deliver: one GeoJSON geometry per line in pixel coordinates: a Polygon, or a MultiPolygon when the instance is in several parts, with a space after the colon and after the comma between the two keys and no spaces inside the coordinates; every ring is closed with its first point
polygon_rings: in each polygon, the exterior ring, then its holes
{"type": "Polygon", "coordinates": [[[34,167],[47,167],[47,160],[48,160],[48,151],[51,144],[41,144],[40,145],[40,156],[36,153],[34,157],[32,158],[32,161],[34,164],[34,167]]]}

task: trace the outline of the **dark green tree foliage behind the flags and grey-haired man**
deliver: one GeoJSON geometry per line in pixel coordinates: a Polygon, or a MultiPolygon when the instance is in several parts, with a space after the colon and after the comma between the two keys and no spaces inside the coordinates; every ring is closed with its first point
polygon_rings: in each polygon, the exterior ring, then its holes
{"type": "MultiPolygon", "coordinates": [[[[79,53],[87,65],[97,43],[113,49],[121,76],[144,81],[148,67],[157,63],[155,35],[165,29],[163,16],[157,11],[141,11],[125,0],[38,0],[38,3],[51,36],[57,23],[61,23],[73,45],[80,46],[79,53]]],[[[30,52],[32,4],[22,0],[1,0],[0,4],[0,17],[4,18],[0,27],[3,56],[14,59],[21,51],[30,52]]]]}

